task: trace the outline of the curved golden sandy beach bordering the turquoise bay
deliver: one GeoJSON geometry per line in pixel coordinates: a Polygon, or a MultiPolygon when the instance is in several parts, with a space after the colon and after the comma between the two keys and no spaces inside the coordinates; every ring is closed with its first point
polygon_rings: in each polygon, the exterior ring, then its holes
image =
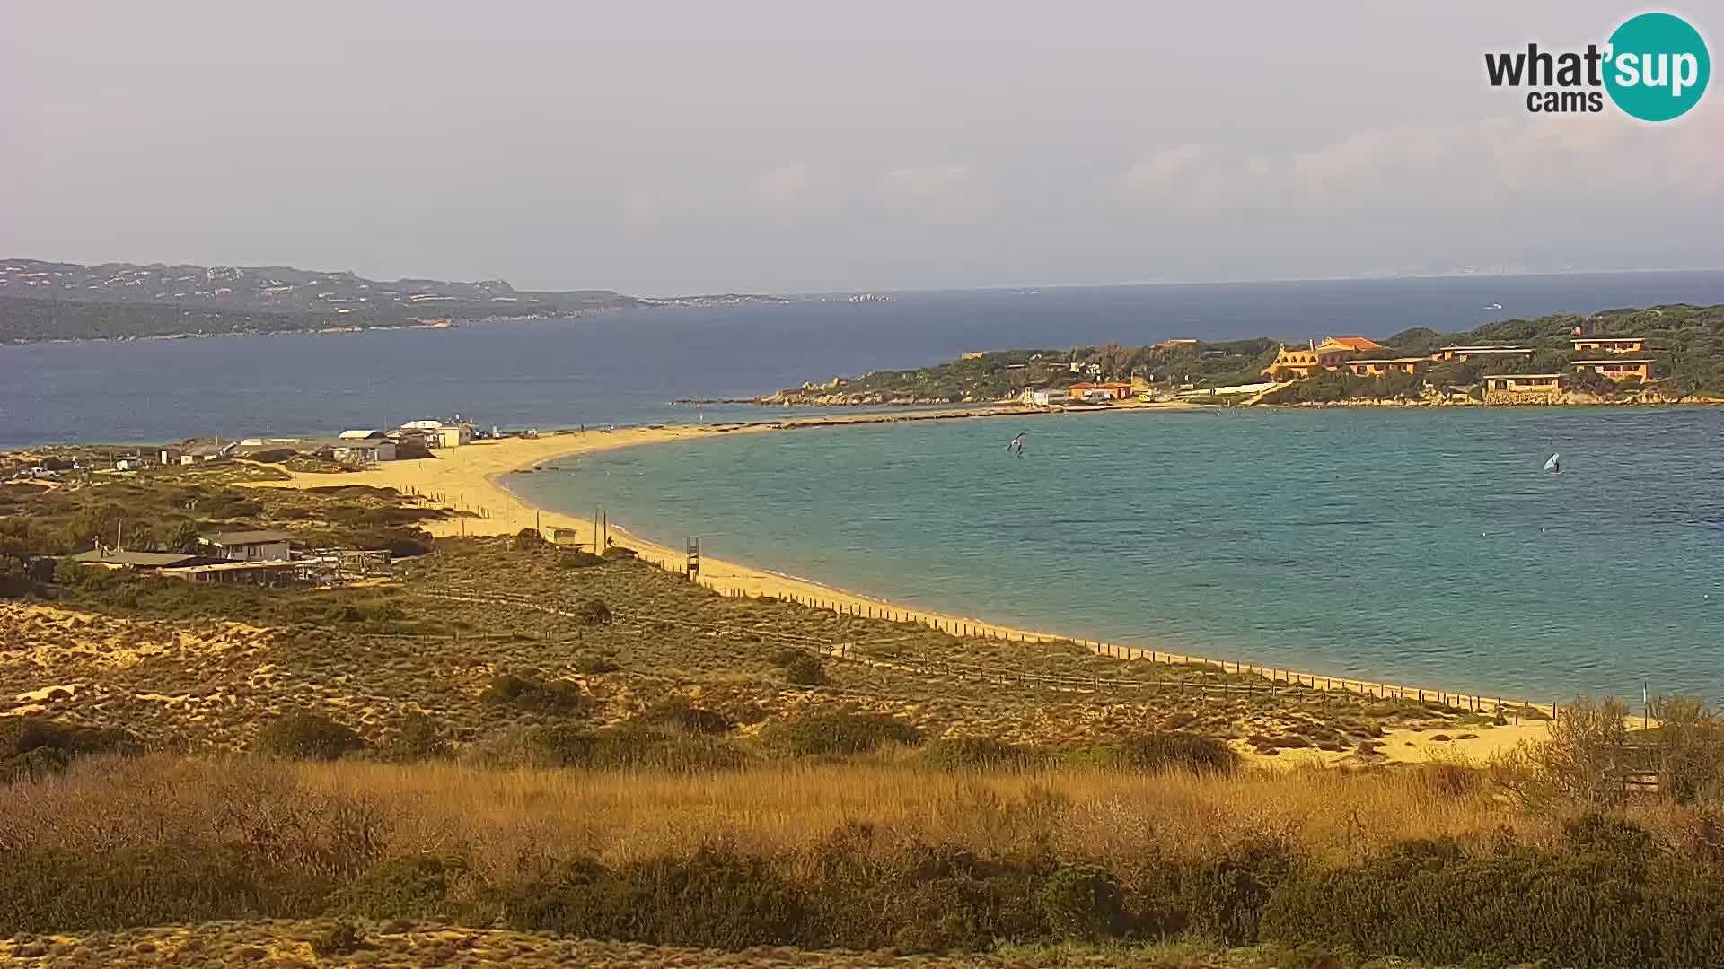
{"type": "MultiPolygon", "coordinates": [[[[1143,409],[1133,409],[1143,410],[1143,409]]],[[[474,441],[460,448],[434,452],[436,457],[422,460],[388,462],[371,471],[305,474],[295,472],[290,481],[259,481],[260,488],[322,488],[340,484],[371,484],[379,488],[397,488],[403,493],[426,495],[440,503],[474,512],[472,516],[433,521],[426,529],[436,536],[455,535],[515,535],[521,529],[538,528],[547,538],[553,529],[574,533],[581,548],[593,548],[598,524],[591,517],[571,516],[534,507],[515,497],[505,486],[512,472],[547,464],[564,457],[598,453],[605,450],[643,447],[667,441],[703,440],[722,434],[752,434],[769,431],[788,431],[796,428],[872,424],[888,421],[928,421],[928,419],[962,419],[988,416],[1031,416],[1036,410],[1026,409],[972,409],[972,410],[933,410],[914,414],[855,414],[855,416],[821,416],[807,419],[788,419],[757,424],[715,424],[715,426],[648,426],[545,433],[536,438],[503,438],[497,441],[474,441]]],[[[1043,412],[1045,414],[1045,412],[1043,412]]],[[[605,535],[614,545],[633,548],[641,559],[672,572],[684,572],[686,552],[648,541],[615,524],[607,524],[605,535]]],[[[1048,641],[1065,640],[1048,631],[1002,626],[971,616],[952,616],[912,609],[881,598],[833,588],[809,579],[784,576],[759,567],[728,562],[722,559],[702,557],[700,583],[726,595],[778,597],[798,600],[807,605],[855,612],[862,616],[879,616],[884,619],[910,621],[945,629],[953,635],[993,636],[1005,640],[1048,641]]],[[[1312,672],[1290,672],[1281,669],[1240,664],[1227,659],[1210,659],[1184,653],[1164,652],[1162,648],[1141,648],[1134,645],[1091,643],[1074,640],[1098,652],[1122,659],[1148,659],[1152,662],[1209,662],[1221,666],[1227,672],[1252,672],[1272,681],[1303,683],[1312,688],[1348,690],[1353,693],[1372,693],[1383,697],[1424,698],[1452,703],[1457,707],[1476,705],[1488,710],[1495,697],[1469,697],[1431,688],[1414,688],[1403,685],[1383,685],[1360,679],[1327,678],[1312,672]]],[[[1529,703],[1531,705],[1531,703],[1529,703]]],[[[1548,712],[1548,707],[1543,707],[1548,712]]],[[[1483,728],[1477,736],[1455,736],[1391,731],[1384,740],[1381,753],[1396,762],[1424,762],[1441,759],[1467,759],[1483,762],[1498,750],[1507,750],[1522,740],[1545,736],[1546,722],[1522,719],[1510,726],[1483,728]],[[1445,736],[1445,740],[1434,740],[1445,736]]],[[[1321,760],[1333,764],[1340,753],[1286,752],[1274,759],[1279,764],[1310,764],[1321,760]]]]}

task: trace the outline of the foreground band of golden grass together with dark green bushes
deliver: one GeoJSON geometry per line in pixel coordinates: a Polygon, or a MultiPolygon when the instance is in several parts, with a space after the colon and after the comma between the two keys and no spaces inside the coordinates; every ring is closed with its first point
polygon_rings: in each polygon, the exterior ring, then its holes
{"type": "Polygon", "coordinates": [[[0,936],[324,914],[724,950],[1195,935],[1688,967],[1724,957],[1724,860],[1683,835],[1703,817],[1529,816],[1414,774],[93,759],[0,786],[0,936]]]}

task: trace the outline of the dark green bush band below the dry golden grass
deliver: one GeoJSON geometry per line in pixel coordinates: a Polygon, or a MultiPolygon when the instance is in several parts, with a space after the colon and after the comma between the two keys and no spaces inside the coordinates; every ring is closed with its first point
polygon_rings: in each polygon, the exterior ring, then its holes
{"type": "MultiPolygon", "coordinates": [[[[721,950],[978,952],[1188,933],[1433,966],[1724,966],[1724,867],[1645,853],[1641,835],[1584,819],[1558,848],[1402,841],[1322,871],[1281,843],[1245,841],[1202,862],[1140,860],[1129,879],[1093,862],[978,857],[859,822],[783,855],[709,847],[607,866],[531,853],[514,867],[478,867],[414,853],[329,874],[271,860],[267,841],[12,845],[0,847],[0,938],[322,914],[500,919],[524,931],[721,950]]],[[[355,943],[329,941],[328,953],[355,943]]]]}

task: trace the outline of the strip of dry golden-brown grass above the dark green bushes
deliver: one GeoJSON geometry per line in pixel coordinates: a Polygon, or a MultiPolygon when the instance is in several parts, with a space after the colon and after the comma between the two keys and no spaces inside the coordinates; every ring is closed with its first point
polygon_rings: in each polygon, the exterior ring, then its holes
{"type": "MultiPolygon", "coordinates": [[[[1653,803],[1633,817],[1672,845],[1690,821],[1653,803]]],[[[669,774],[153,755],[86,760],[59,779],[0,788],[0,850],[212,845],[274,828],[264,841],[319,864],[340,867],[341,852],[362,866],[362,855],[460,850],[498,876],[533,859],[624,862],[714,845],[796,855],[853,822],[984,857],[1048,848],[1129,867],[1210,857],[1259,836],[1336,864],[1405,838],[1488,845],[1507,831],[1557,843],[1564,821],[1514,810],[1483,776],[1445,767],[1202,778],[953,774],[883,760],[669,774]]]]}

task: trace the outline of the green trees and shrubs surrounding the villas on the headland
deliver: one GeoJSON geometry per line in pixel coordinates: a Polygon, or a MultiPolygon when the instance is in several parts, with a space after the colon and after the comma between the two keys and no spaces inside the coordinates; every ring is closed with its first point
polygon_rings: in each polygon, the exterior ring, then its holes
{"type": "MultiPolygon", "coordinates": [[[[1319,336],[1321,340],[1321,336],[1319,336]]],[[[1483,362],[1429,360],[1417,374],[1355,376],[1319,371],[1265,395],[1265,403],[1327,403],[1340,400],[1455,400],[1479,390],[1484,374],[1564,372],[1572,391],[1598,400],[1724,398],[1724,307],[1658,305],[1590,316],[1553,314],[1538,319],[1486,322],[1464,333],[1403,329],[1381,341],[1372,357],[1431,359],[1441,347],[1524,347],[1522,355],[1483,362]],[[1612,381],[1574,360],[1576,333],[1595,338],[1636,336],[1650,362],[1648,379],[1612,381]]],[[[1276,362],[1276,340],[1164,340],[1148,347],[1072,347],[1067,350],[998,350],[909,371],[878,371],[853,379],[803,384],[762,402],[772,403],[979,403],[1019,400],[1033,390],[1065,390],[1084,381],[1131,381],[1143,393],[1172,397],[1181,390],[1245,386],[1265,381],[1276,362]]]]}

